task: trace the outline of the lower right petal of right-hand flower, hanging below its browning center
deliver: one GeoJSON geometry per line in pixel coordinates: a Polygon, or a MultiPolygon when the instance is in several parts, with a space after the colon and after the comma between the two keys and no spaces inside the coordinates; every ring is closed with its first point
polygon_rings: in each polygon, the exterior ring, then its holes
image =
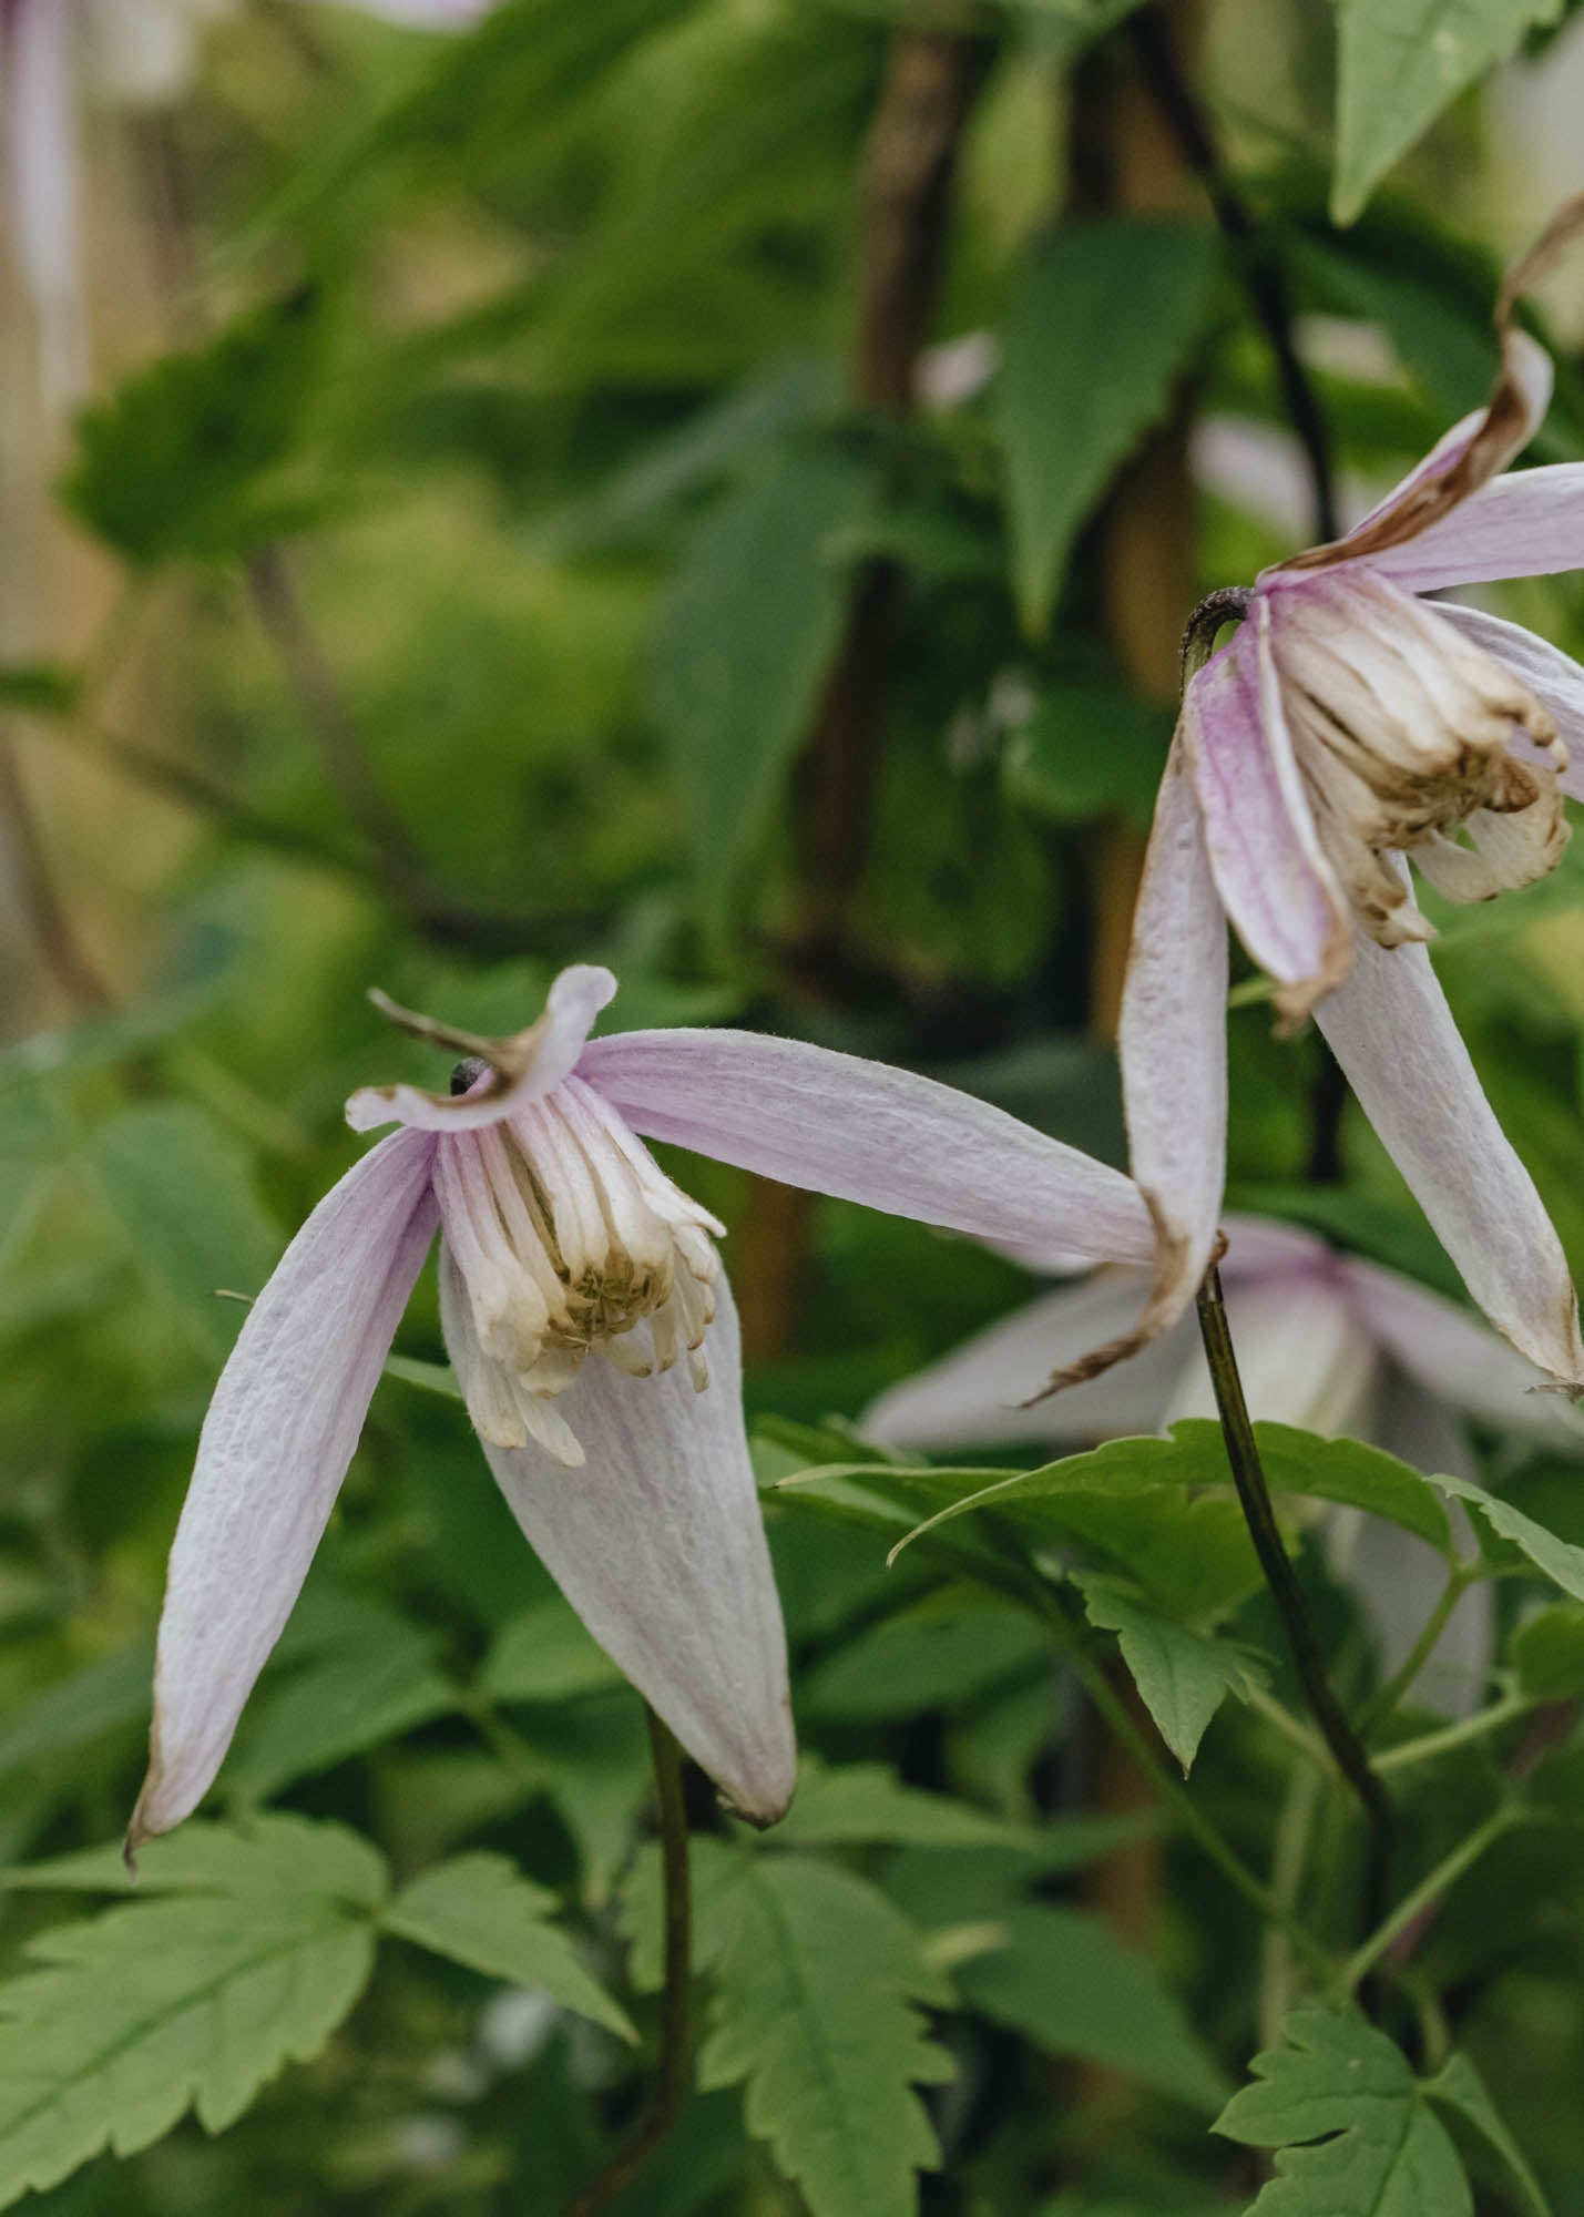
{"type": "Polygon", "coordinates": [[[1491,1324],[1549,1379],[1584,1392],[1562,1242],[1480,1089],[1424,947],[1360,936],[1316,1022],[1491,1324]]]}

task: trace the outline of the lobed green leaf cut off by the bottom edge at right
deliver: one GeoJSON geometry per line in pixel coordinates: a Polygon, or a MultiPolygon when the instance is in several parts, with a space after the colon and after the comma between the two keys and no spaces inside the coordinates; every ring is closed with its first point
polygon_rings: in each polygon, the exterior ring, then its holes
{"type": "Polygon", "coordinates": [[[1398,2046],[1353,2011],[1293,2009],[1216,2131],[1276,2148],[1249,2217],[1473,2217],[1469,2177],[1398,2046]]]}

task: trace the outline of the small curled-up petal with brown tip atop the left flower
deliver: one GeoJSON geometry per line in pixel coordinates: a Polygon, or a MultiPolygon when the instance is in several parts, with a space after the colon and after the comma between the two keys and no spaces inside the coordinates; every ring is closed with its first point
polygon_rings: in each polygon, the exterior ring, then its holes
{"type": "Polygon", "coordinates": [[[563,969],[546,995],[544,1015],[510,1040],[484,1040],[473,1031],[455,1031],[430,1015],[399,1009],[386,993],[370,993],[375,1007],[402,1031],[441,1046],[446,1053],[488,1064],[488,1071],[464,1095],[424,1093],[422,1086],[364,1086],[346,1104],[353,1131],[375,1131],[379,1124],[413,1124],[419,1131],[477,1131],[499,1124],[526,1102],[552,1093],[577,1069],[595,1018],[617,991],[617,980],[597,962],[575,962],[563,969]]]}

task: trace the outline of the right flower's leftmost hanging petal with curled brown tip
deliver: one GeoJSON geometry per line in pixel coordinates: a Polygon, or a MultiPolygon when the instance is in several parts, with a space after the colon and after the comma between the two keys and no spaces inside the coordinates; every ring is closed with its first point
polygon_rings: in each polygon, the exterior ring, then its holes
{"type": "Polygon", "coordinates": [[[1143,1324],[1154,1335],[1194,1299],[1227,1177],[1227,916],[1176,747],[1134,911],[1118,1046],[1134,1177],[1158,1233],[1143,1324]]]}

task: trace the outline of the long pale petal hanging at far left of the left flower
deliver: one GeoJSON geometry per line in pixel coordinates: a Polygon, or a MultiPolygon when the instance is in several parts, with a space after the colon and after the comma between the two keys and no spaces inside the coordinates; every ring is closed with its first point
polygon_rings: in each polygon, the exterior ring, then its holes
{"type": "Polygon", "coordinates": [[[171,1547],[131,1847],[204,1798],[291,1616],[435,1233],[430,1155],[393,1133],[326,1193],[220,1375],[171,1547]]]}

